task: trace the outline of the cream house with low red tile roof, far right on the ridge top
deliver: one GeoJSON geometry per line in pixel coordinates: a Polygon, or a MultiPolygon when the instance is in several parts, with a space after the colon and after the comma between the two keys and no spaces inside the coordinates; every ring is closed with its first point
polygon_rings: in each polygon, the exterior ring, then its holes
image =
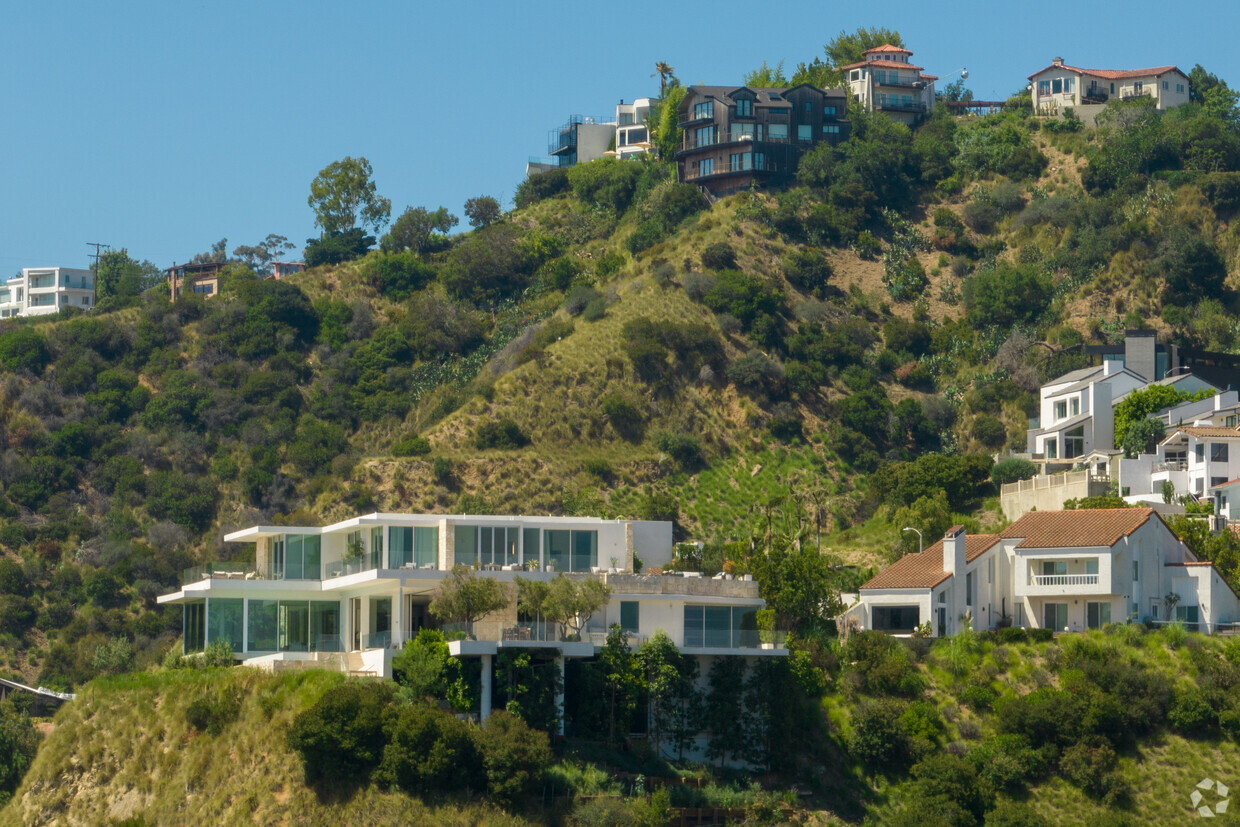
{"type": "Polygon", "coordinates": [[[1050,66],[1030,74],[1029,84],[1035,115],[1058,115],[1066,107],[1079,109],[1115,99],[1152,98],[1157,109],[1188,103],[1188,76],[1174,66],[1083,69],[1056,57],[1050,66]]]}

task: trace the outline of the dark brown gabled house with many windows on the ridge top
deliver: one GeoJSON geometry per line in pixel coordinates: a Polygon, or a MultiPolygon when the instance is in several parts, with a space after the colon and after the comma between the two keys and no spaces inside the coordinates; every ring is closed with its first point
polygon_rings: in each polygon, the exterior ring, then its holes
{"type": "Polygon", "coordinates": [[[723,196],[786,184],[805,150],[848,138],[843,89],[693,86],[678,109],[677,177],[723,196]]]}

